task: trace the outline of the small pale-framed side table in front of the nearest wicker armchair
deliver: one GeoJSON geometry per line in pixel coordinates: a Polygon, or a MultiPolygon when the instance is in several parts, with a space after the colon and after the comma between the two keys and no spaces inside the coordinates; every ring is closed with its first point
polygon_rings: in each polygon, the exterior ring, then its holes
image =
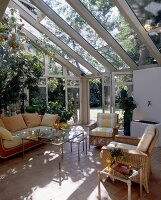
{"type": "Polygon", "coordinates": [[[140,199],[142,199],[142,169],[138,169],[138,170],[132,169],[132,173],[130,175],[120,174],[120,176],[118,174],[115,174],[114,169],[112,169],[112,172],[109,172],[108,167],[106,167],[102,171],[99,171],[98,172],[98,198],[99,198],[99,200],[101,200],[101,185],[100,185],[100,183],[101,183],[103,176],[110,177],[113,180],[113,182],[116,179],[116,180],[122,181],[124,183],[127,183],[128,200],[131,200],[131,179],[134,176],[137,176],[138,174],[140,176],[140,199]]]}

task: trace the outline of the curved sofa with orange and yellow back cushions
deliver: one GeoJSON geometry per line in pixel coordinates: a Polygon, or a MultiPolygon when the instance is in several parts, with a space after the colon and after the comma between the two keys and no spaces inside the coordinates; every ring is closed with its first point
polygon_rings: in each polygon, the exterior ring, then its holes
{"type": "MultiPolygon", "coordinates": [[[[12,155],[22,152],[22,139],[20,136],[23,132],[40,131],[51,128],[58,115],[47,114],[43,116],[37,113],[24,113],[11,117],[0,118],[0,158],[8,158],[12,155]]],[[[42,143],[35,141],[24,141],[24,150],[35,147],[42,143]]]]}

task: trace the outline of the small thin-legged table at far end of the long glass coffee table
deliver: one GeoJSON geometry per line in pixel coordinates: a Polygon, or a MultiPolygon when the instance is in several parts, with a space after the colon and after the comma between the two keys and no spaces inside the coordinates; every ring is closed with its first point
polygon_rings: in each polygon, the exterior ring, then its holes
{"type": "Polygon", "coordinates": [[[80,161],[80,143],[83,142],[83,151],[84,151],[84,141],[85,141],[86,155],[87,155],[87,136],[85,136],[84,133],[69,141],[71,152],[72,152],[72,144],[76,143],[78,145],[78,161],[80,161]]]}

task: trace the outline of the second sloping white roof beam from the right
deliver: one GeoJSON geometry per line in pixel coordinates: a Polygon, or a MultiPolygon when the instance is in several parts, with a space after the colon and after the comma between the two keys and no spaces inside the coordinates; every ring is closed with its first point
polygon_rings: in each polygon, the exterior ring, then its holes
{"type": "Polygon", "coordinates": [[[88,11],[88,9],[79,0],[66,0],[87,22],[88,24],[117,52],[123,61],[132,69],[138,68],[136,63],[125,52],[125,50],[116,42],[111,34],[98,22],[98,20],[88,11]]]}

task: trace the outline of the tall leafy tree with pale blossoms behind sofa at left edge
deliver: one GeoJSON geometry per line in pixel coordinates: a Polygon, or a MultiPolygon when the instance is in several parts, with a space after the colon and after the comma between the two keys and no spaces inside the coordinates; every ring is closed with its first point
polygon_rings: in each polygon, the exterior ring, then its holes
{"type": "Polygon", "coordinates": [[[42,75],[42,63],[36,56],[23,51],[25,35],[18,25],[18,13],[10,9],[0,23],[0,113],[12,103],[21,102],[24,111],[24,89],[37,87],[42,75]]]}

